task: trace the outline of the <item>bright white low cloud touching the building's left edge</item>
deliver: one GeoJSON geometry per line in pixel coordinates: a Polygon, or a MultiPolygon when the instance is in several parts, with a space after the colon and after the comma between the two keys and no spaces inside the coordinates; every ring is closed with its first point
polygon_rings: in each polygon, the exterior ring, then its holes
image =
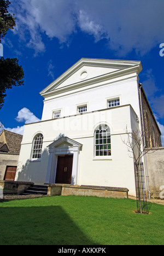
{"type": "MultiPolygon", "coordinates": [[[[18,114],[17,117],[15,118],[17,122],[23,122],[25,124],[30,124],[30,123],[36,123],[40,121],[39,118],[37,118],[28,108],[22,108],[18,114]]],[[[21,135],[24,134],[24,129],[25,125],[22,126],[17,126],[15,128],[5,128],[2,123],[0,122],[0,132],[5,129],[7,131],[19,133],[21,135]]]]}

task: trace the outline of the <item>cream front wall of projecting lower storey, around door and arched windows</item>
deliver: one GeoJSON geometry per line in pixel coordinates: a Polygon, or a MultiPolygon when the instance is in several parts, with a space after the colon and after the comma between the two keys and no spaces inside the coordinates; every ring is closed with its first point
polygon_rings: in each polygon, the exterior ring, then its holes
{"type": "Polygon", "coordinates": [[[134,126],[132,122],[136,122],[135,116],[128,105],[25,125],[16,180],[44,184],[49,159],[47,146],[60,136],[66,136],[83,144],[80,152],[79,185],[126,187],[134,194],[133,160],[129,158],[122,139],[126,136],[126,126],[131,132],[131,126],[134,126]],[[110,160],[94,158],[93,136],[99,124],[108,124],[111,130],[110,160]],[[32,139],[39,132],[44,136],[42,158],[39,161],[31,161],[32,139]]]}

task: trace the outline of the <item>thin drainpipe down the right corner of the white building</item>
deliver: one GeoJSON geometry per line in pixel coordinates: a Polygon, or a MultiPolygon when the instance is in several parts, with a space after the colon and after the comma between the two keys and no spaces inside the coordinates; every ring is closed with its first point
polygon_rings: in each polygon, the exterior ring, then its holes
{"type": "MultiPolygon", "coordinates": [[[[140,108],[141,108],[141,115],[142,115],[142,124],[143,124],[143,133],[144,133],[144,147],[143,149],[145,150],[146,147],[146,141],[145,141],[145,130],[144,130],[144,118],[143,118],[143,108],[142,108],[142,100],[141,100],[141,88],[142,88],[142,84],[139,84],[139,97],[140,97],[140,108]]],[[[144,155],[144,163],[145,163],[145,171],[146,171],[146,177],[147,177],[147,186],[148,186],[148,193],[149,193],[149,199],[150,199],[150,190],[149,190],[149,176],[148,176],[148,165],[147,165],[147,156],[144,155]]]]}

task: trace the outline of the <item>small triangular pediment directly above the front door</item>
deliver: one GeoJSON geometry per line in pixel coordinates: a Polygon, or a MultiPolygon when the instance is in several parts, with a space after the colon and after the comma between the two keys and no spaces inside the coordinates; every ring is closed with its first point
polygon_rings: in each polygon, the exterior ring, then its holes
{"type": "Polygon", "coordinates": [[[61,137],[59,139],[57,139],[56,141],[52,142],[48,148],[52,149],[52,148],[69,148],[69,147],[78,147],[80,148],[81,146],[83,146],[81,143],[74,141],[71,138],[68,137],[61,137]]]}

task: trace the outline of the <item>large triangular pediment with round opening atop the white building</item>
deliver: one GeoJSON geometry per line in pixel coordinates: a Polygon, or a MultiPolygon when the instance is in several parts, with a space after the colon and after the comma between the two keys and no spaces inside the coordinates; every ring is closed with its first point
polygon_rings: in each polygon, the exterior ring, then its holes
{"type": "Polygon", "coordinates": [[[131,68],[136,68],[136,72],[139,73],[142,65],[140,61],[81,59],[40,94],[47,97],[55,91],[69,90],[72,86],[85,86],[87,83],[94,83],[95,79],[101,80],[104,76],[110,77],[131,68]]]}

